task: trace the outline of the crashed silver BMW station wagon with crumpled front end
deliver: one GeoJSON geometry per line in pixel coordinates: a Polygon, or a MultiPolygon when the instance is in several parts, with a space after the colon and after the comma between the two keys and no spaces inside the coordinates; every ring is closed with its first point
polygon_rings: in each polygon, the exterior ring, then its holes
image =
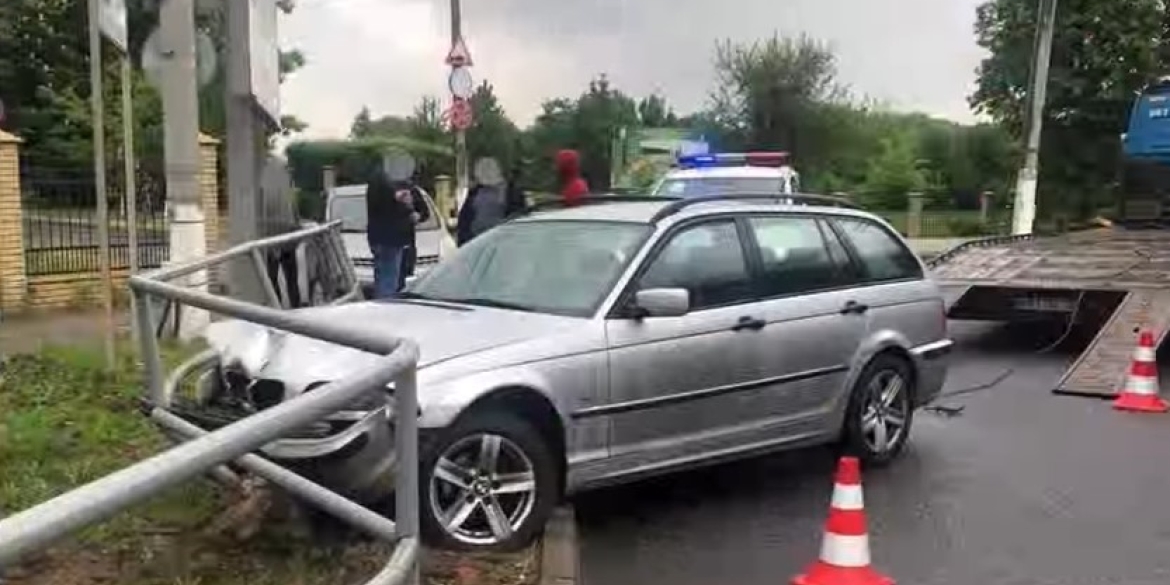
{"type": "MultiPolygon", "coordinates": [[[[943,297],[886,222],[831,204],[597,198],[491,229],[400,298],[301,311],[419,343],[425,536],[514,548],[601,484],[819,443],[902,452],[945,377],[943,297]]],[[[228,381],[205,395],[252,388],[254,408],[377,359],[241,322],[208,338],[228,381]]],[[[264,452],[378,504],[386,408],[264,452]]]]}

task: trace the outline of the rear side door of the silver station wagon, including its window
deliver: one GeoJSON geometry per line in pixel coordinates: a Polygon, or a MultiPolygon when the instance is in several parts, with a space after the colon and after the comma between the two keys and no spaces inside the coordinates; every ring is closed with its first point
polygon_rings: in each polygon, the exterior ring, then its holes
{"type": "Polygon", "coordinates": [[[856,273],[835,234],[817,215],[744,218],[758,257],[758,312],[766,322],[752,346],[763,364],[763,392],[739,407],[757,425],[748,442],[835,432],[830,413],[868,326],[853,285],[856,273]]]}

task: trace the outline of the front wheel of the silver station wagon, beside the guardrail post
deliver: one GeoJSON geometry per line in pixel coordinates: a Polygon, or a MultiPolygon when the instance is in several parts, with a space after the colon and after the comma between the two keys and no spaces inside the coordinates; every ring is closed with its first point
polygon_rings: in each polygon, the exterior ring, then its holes
{"type": "Polygon", "coordinates": [[[534,425],[505,412],[472,412],[429,436],[419,455],[420,528],[435,548],[521,549],[559,497],[551,447],[534,425]]]}

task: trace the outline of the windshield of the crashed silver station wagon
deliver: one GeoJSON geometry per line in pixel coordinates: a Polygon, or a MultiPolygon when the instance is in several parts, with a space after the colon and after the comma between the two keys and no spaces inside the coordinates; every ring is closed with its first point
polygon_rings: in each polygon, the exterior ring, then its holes
{"type": "Polygon", "coordinates": [[[443,260],[402,297],[589,317],[648,232],[612,221],[504,223],[443,260]]]}

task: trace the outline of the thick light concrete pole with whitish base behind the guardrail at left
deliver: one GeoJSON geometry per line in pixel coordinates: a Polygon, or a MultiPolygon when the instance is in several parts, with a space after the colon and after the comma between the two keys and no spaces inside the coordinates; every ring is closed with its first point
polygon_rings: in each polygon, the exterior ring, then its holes
{"type": "MultiPolygon", "coordinates": [[[[239,2],[229,2],[239,4],[239,2]]],[[[159,35],[166,56],[163,67],[163,119],[166,156],[166,195],[171,219],[171,262],[206,255],[204,212],[199,202],[199,89],[195,64],[195,6],[193,0],[166,0],[159,7],[159,35]]],[[[207,288],[207,271],[186,284],[207,288]]],[[[184,307],[179,337],[193,338],[211,323],[202,309],[184,307]]]]}

